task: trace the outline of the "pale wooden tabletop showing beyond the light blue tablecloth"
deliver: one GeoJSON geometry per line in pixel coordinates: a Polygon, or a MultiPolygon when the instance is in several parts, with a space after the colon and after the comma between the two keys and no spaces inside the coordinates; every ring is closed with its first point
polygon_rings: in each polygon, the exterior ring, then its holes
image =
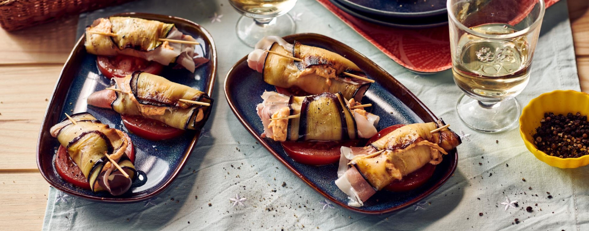
{"type": "MultiPolygon", "coordinates": [[[[581,89],[589,91],[589,1],[569,0],[581,89]]],[[[78,16],[16,32],[0,29],[0,227],[39,230],[49,184],[35,159],[41,119],[76,41],[78,16]]]]}

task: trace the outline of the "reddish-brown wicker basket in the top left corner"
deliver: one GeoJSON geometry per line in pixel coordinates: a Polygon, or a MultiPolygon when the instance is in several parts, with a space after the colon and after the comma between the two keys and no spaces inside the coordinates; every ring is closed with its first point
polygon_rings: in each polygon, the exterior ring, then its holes
{"type": "Polygon", "coordinates": [[[0,0],[0,26],[14,31],[43,24],[64,15],[122,4],[133,0],[0,0]]]}

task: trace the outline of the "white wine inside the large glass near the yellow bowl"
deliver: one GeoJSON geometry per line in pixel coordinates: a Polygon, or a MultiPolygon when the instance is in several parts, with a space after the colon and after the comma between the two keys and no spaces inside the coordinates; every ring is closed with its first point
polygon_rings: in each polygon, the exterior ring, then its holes
{"type": "MultiPolygon", "coordinates": [[[[508,24],[484,24],[470,28],[482,34],[505,35],[517,32],[508,24]]],[[[501,102],[523,91],[530,79],[528,42],[525,36],[489,40],[464,34],[458,41],[456,85],[475,99],[501,102]]]]}

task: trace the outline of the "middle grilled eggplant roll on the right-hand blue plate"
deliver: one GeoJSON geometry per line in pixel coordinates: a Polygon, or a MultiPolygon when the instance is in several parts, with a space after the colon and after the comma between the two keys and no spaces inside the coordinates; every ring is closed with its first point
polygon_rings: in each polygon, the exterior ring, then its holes
{"type": "Polygon", "coordinates": [[[346,101],[341,92],[325,92],[312,96],[286,96],[264,92],[264,101],[257,105],[264,133],[275,141],[348,140],[370,138],[376,134],[379,116],[363,109],[350,110],[359,104],[346,101]],[[278,119],[300,115],[292,119],[278,119]]]}

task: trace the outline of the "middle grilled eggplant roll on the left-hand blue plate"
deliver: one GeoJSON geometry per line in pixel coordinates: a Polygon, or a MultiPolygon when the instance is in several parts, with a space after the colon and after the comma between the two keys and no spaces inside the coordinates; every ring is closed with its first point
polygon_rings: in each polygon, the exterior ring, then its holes
{"type": "Polygon", "coordinates": [[[125,78],[115,78],[115,82],[114,88],[122,92],[108,89],[94,92],[88,96],[88,104],[158,120],[183,130],[201,129],[209,119],[213,99],[190,86],[141,71],[125,78]],[[211,106],[184,103],[179,99],[210,103],[211,106]]]}

